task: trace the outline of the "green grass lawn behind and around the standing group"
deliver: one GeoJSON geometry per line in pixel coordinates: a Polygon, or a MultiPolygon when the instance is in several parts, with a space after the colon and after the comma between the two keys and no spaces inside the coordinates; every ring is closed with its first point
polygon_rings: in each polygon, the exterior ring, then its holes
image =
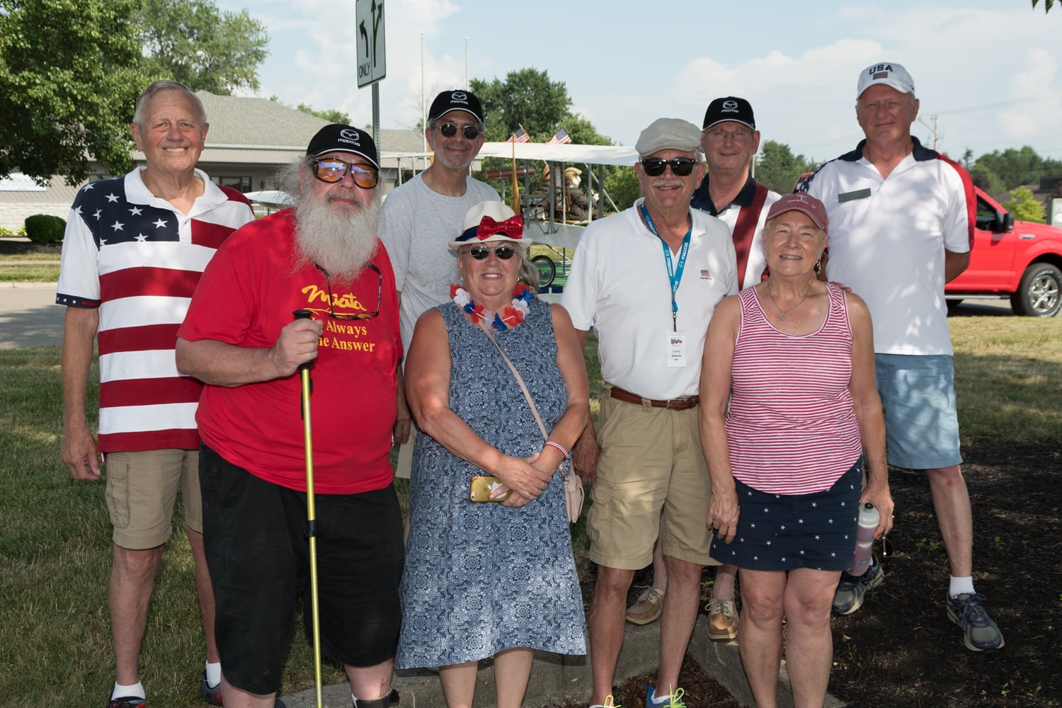
{"type": "MultiPolygon", "coordinates": [[[[950,325],[964,443],[1058,444],[1062,317],[955,317],[950,325]]],[[[602,385],[596,355],[588,359],[596,398],[602,385]]],[[[96,378],[93,367],[90,380],[96,378]]],[[[96,395],[93,385],[90,400],[96,395]]],[[[0,350],[0,706],[102,705],[114,681],[106,593],[110,524],[103,483],[75,483],[59,462],[59,348],[0,350]]],[[[596,401],[592,408],[596,413],[596,401]]],[[[204,650],[192,560],[179,512],[174,518],[141,675],[153,705],[201,708],[204,650]]],[[[573,533],[582,553],[582,523],[573,533]]],[[[343,680],[333,667],[326,667],[324,677],[343,680]]],[[[312,681],[311,652],[296,631],[282,691],[307,689],[312,681]]]]}

